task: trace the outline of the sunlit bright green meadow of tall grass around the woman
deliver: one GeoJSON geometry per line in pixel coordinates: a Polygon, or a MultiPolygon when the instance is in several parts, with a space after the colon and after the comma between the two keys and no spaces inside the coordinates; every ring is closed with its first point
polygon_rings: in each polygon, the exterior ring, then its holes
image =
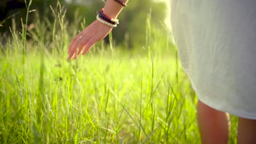
{"type": "MultiPolygon", "coordinates": [[[[110,34],[110,44],[67,61],[85,21],[67,26],[63,9],[53,14],[21,31],[14,22],[1,44],[0,143],[200,143],[196,94],[150,16],[145,44],[127,49],[110,34]]],[[[231,126],[236,143],[236,117],[231,126]]]]}

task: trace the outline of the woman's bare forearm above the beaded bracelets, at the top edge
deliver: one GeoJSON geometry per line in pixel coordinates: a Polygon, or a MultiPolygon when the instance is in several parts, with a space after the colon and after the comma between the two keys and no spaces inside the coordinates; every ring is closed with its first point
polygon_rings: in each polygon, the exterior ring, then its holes
{"type": "MultiPolygon", "coordinates": [[[[129,0],[120,0],[121,2],[127,3],[129,0]]],[[[107,0],[104,6],[104,14],[106,14],[111,19],[117,19],[119,13],[124,8],[123,5],[115,2],[114,0],[107,0]]]]}

